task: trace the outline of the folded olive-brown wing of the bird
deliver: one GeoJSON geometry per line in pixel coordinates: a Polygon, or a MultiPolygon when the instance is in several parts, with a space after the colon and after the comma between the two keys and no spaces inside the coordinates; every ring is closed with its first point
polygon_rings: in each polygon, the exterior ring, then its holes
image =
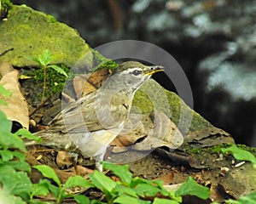
{"type": "Polygon", "coordinates": [[[88,94],[68,105],[50,122],[51,127],[61,129],[62,133],[92,132],[114,129],[124,122],[127,106],[109,105],[109,99],[96,92],[88,94]],[[97,99],[96,99],[97,97],[97,99]]]}

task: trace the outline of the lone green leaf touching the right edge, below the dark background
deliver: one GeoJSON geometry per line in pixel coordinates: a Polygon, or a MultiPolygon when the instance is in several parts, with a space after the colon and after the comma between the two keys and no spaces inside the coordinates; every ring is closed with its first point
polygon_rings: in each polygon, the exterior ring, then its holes
{"type": "Polygon", "coordinates": [[[221,149],[223,153],[225,152],[231,152],[233,156],[237,160],[243,160],[243,161],[251,161],[253,163],[253,167],[256,166],[256,158],[253,156],[253,154],[247,150],[241,150],[236,146],[236,144],[233,144],[229,148],[221,149]]]}

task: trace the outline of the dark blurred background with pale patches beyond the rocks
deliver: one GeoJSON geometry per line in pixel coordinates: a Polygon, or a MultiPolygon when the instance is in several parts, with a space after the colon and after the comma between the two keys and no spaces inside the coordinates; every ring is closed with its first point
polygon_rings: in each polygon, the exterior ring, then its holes
{"type": "MultiPolygon", "coordinates": [[[[51,14],[96,48],[151,42],[177,59],[194,109],[236,143],[256,146],[256,1],[14,0],[51,14]]],[[[157,80],[175,91],[163,76],[157,80]]]]}

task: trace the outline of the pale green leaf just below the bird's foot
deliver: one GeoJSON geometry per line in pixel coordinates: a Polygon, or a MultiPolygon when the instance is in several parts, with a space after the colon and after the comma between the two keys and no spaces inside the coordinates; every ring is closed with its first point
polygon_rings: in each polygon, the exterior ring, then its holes
{"type": "Polygon", "coordinates": [[[96,186],[96,188],[102,190],[105,194],[110,193],[115,187],[116,183],[108,178],[104,173],[95,171],[89,175],[91,183],[96,186]]]}

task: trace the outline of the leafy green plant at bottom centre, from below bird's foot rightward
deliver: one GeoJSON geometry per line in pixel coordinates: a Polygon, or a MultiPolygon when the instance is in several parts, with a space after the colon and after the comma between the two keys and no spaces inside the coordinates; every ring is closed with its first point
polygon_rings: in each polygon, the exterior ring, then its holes
{"type": "Polygon", "coordinates": [[[207,199],[210,195],[207,187],[197,184],[191,177],[177,191],[172,191],[166,190],[160,180],[133,178],[128,165],[119,166],[103,162],[103,167],[111,170],[120,179],[114,182],[98,171],[90,174],[90,182],[102,190],[108,203],[178,204],[182,202],[181,195],[195,195],[201,199],[207,199]]]}

